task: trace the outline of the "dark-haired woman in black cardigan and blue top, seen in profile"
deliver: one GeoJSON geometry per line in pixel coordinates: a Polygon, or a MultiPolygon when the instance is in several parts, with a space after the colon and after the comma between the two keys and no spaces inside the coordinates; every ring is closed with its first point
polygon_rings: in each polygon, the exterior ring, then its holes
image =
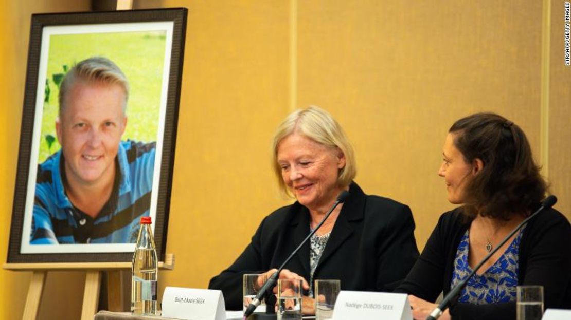
{"type": "MultiPolygon", "coordinates": [[[[396,291],[409,294],[413,317],[425,319],[441,291],[464,280],[522,220],[540,206],[546,184],[525,133],[495,114],[456,121],[444,143],[448,201],[396,291]]],[[[516,286],[544,286],[545,308],[571,308],[571,226],[548,209],[514,234],[484,264],[440,319],[515,319],[516,286]]]]}

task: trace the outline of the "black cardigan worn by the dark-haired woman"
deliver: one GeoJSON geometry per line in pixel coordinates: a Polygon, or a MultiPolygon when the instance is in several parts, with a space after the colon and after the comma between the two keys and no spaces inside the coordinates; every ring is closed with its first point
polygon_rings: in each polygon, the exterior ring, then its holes
{"type": "MultiPolygon", "coordinates": [[[[454,260],[460,240],[471,221],[461,208],[444,213],[419,260],[397,292],[435,301],[450,291],[454,260]]],[[[544,286],[544,308],[571,308],[571,226],[557,210],[539,213],[528,222],[521,237],[518,285],[544,286]]],[[[471,305],[455,303],[452,319],[515,319],[515,302],[471,305]]]]}

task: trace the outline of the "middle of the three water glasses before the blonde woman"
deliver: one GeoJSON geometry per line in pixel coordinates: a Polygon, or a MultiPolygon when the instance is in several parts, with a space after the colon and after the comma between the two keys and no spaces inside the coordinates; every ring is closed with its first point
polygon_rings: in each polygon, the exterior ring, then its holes
{"type": "Polygon", "coordinates": [[[301,320],[301,280],[278,280],[278,320],[301,320]]]}

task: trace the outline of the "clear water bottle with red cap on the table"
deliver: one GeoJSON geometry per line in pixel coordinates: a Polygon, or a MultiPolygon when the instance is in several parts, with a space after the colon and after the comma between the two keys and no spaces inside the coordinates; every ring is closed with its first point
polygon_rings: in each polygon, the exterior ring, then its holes
{"type": "Polygon", "coordinates": [[[131,312],[133,314],[156,314],[157,266],[151,217],[141,217],[139,237],[133,254],[131,286],[131,312]]]}

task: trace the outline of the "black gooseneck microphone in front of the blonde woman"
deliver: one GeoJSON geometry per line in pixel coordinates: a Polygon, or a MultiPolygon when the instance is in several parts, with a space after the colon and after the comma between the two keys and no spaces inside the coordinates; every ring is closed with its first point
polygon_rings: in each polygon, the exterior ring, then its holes
{"type": "MultiPolygon", "coordinates": [[[[293,250],[293,252],[289,255],[289,257],[286,259],[286,261],[284,261],[283,264],[280,266],[278,271],[276,271],[274,274],[272,274],[270,276],[270,278],[268,278],[268,280],[266,280],[266,283],[264,283],[264,285],[262,286],[262,289],[260,289],[260,291],[258,291],[258,294],[256,294],[256,297],[254,299],[252,299],[252,302],[250,302],[250,305],[248,305],[248,307],[246,308],[246,311],[244,311],[244,319],[248,318],[252,313],[254,313],[254,310],[256,310],[256,307],[258,307],[260,305],[260,302],[262,301],[263,297],[268,298],[268,300],[274,301],[274,304],[275,304],[275,298],[273,298],[272,289],[274,289],[274,287],[276,286],[276,283],[278,283],[278,278],[280,276],[280,272],[282,272],[282,270],[284,269],[286,264],[289,262],[289,260],[291,260],[291,258],[293,258],[293,256],[295,256],[295,254],[301,249],[301,247],[305,244],[305,242],[307,242],[309,240],[309,238],[311,238],[311,236],[313,236],[313,234],[317,231],[317,229],[319,229],[321,227],[321,225],[323,225],[323,222],[325,222],[325,220],[327,220],[327,218],[329,216],[331,216],[331,213],[333,212],[333,210],[335,210],[335,208],[337,208],[337,205],[345,202],[345,200],[347,200],[348,197],[349,197],[348,191],[343,191],[340,193],[340,195],[337,197],[337,200],[335,200],[335,203],[333,204],[331,209],[329,209],[329,211],[325,214],[325,217],[323,218],[323,220],[321,220],[319,222],[319,224],[317,224],[315,229],[311,230],[311,232],[309,232],[307,237],[305,237],[305,239],[303,241],[301,241],[301,244],[299,244],[299,246],[297,246],[297,248],[295,248],[295,250],[293,250]],[[272,297],[270,297],[270,295],[272,297]]],[[[264,317],[264,315],[260,314],[260,315],[258,315],[259,319],[275,319],[275,317],[276,317],[275,310],[273,310],[273,308],[271,307],[272,305],[270,305],[270,301],[267,301],[267,302],[268,303],[266,303],[266,314],[271,314],[271,315],[269,317],[264,317]],[[273,311],[269,311],[269,309],[272,309],[273,311]]]]}

